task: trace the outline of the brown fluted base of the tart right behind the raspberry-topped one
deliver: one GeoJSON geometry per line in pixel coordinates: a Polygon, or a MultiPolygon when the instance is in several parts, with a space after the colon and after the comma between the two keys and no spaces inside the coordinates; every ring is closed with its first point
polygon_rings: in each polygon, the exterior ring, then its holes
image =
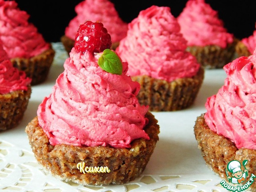
{"type": "Polygon", "coordinates": [[[188,108],[194,103],[204,80],[204,68],[192,78],[179,78],[172,82],[149,76],[132,76],[140,83],[137,95],[141,105],[148,105],[150,111],[176,111],[188,108]]]}

